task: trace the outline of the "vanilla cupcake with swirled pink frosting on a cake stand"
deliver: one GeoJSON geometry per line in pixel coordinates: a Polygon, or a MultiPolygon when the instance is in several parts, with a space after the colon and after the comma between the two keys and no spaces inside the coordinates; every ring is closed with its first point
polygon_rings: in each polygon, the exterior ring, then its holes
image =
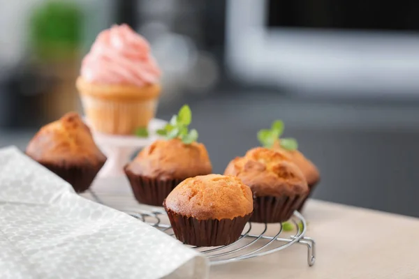
{"type": "Polygon", "coordinates": [[[145,38],[126,24],[99,33],[76,82],[94,130],[132,135],[154,117],[160,69],[145,38]]]}

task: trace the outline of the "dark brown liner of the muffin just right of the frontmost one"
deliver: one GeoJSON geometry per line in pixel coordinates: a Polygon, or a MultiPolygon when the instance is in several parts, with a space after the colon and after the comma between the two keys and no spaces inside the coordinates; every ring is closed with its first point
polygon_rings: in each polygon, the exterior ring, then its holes
{"type": "Polygon", "coordinates": [[[250,221],[256,223],[284,222],[293,216],[294,211],[298,209],[307,195],[253,197],[254,209],[250,221]]]}

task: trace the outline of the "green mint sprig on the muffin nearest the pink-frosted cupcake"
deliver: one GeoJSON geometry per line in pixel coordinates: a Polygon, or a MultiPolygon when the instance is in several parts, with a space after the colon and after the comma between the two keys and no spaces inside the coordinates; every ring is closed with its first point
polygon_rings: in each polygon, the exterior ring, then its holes
{"type": "Polygon", "coordinates": [[[189,105],[183,105],[177,115],[173,115],[170,122],[162,129],[156,131],[158,135],[171,140],[179,138],[184,144],[191,144],[198,140],[198,131],[189,130],[189,124],[192,121],[192,112],[189,105]]]}

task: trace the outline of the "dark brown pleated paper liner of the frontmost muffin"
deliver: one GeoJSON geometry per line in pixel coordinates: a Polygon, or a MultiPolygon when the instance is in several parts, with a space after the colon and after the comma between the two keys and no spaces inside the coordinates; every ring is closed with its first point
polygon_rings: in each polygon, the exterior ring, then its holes
{"type": "Polygon", "coordinates": [[[163,206],[176,238],[191,246],[223,246],[233,243],[240,238],[251,216],[250,213],[233,219],[198,220],[177,214],[167,209],[164,203],[163,206]]]}

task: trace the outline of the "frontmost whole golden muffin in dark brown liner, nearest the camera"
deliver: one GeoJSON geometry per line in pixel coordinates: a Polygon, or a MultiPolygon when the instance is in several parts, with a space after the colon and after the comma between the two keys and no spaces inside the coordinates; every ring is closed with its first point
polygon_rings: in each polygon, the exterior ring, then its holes
{"type": "Polygon", "coordinates": [[[240,179],[209,174],[184,180],[163,206],[179,241],[222,246],[240,238],[253,211],[253,199],[240,179]]]}

